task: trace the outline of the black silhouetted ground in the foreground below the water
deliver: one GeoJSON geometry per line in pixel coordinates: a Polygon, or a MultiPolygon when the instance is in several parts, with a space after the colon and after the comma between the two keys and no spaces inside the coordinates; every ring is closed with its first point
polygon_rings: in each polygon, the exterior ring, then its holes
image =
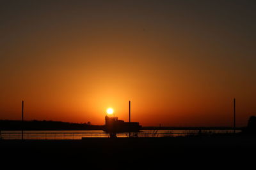
{"type": "Polygon", "coordinates": [[[0,140],[1,166],[22,169],[254,169],[256,136],[0,140]]]}

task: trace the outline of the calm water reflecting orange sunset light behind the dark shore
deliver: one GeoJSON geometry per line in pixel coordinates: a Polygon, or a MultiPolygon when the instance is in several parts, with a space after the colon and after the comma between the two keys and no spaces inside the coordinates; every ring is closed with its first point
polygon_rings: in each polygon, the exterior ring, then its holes
{"type": "MultiPolygon", "coordinates": [[[[230,133],[233,130],[203,130],[209,133],[230,133]]],[[[236,132],[241,132],[237,130],[236,132]]],[[[139,137],[170,137],[198,134],[198,130],[143,130],[139,137]]],[[[117,134],[119,138],[127,138],[128,133],[117,134]]],[[[109,138],[103,131],[24,131],[24,139],[82,139],[109,138]]],[[[21,131],[1,131],[1,139],[21,139],[21,131]]]]}

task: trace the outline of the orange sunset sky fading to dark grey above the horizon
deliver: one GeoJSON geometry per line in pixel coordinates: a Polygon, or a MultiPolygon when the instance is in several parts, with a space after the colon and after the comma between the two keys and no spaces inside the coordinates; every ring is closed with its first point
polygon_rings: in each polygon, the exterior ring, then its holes
{"type": "Polygon", "coordinates": [[[241,127],[256,1],[0,1],[0,80],[0,119],[241,127]]]}

